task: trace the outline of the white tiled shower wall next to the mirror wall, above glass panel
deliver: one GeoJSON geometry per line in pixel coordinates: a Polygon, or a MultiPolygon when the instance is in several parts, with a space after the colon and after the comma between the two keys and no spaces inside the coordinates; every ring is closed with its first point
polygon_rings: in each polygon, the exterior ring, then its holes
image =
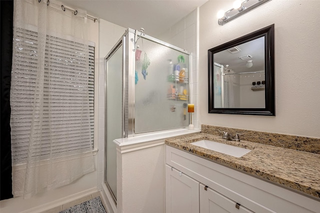
{"type": "Polygon", "coordinates": [[[172,25],[166,32],[159,36],[160,40],[180,47],[192,53],[191,56],[191,75],[190,75],[190,103],[194,103],[194,113],[192,123],[195,128],[200,128],[198,120],[199,101],[198,101],[198,29],[199,29],[199,8],[194,9],[180,21],[172,25]]]}

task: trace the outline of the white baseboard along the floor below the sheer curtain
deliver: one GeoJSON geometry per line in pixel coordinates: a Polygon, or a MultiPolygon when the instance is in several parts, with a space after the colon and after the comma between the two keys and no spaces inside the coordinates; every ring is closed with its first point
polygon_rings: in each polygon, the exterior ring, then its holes
{"type": "Polygon", "coordinates": [[[55,208],[55,207],[61,206],[63,204],[75,201],[77,199],[83,198],[85,196],[91,195],[96,192],[97,192],[97,188],[94,187],[94,188],[91,188],[91,189],[88,189],[88,190],[85,190],[85,191],[82,191],[82,192],[79,192],[79,193],[76,193],[76,194],[73,194],[73,195],[70,195],[70,196],[67,196],[64,198],[60,198],[60,199],[55,200],[53,202],[49,202],[49,203],[25,210],[20,213],[42,213],[42,212],[48,211],[52,208],[55,208]]]}

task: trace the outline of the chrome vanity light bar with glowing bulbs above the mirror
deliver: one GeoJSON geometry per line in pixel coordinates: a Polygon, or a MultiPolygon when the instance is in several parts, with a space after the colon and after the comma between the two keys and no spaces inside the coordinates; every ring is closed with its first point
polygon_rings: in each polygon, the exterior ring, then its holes
{"type": "Polygon", "coordinates": [[[218,24],[223,25],[268,1],[270,0],[236,0],[233,3],[233,8],[226,12],[223,10],[218,11],[216,15],[218,24]]]}

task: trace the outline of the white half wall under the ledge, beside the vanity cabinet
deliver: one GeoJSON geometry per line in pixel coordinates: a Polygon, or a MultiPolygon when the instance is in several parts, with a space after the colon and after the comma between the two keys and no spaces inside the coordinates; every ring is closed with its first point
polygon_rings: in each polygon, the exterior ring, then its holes
{"type": "Polygon", "coordinates": [[[118,147],[117,213],[164,213],[164,139],[118,147]]]}

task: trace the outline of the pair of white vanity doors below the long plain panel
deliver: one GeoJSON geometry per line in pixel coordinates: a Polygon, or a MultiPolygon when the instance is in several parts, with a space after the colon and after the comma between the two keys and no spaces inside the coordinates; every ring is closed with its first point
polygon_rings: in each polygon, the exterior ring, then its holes
{"type": "Polygon", "coordinates": [[[165,204],[166,213],[253,213],[168,165],[165,204]]]}

